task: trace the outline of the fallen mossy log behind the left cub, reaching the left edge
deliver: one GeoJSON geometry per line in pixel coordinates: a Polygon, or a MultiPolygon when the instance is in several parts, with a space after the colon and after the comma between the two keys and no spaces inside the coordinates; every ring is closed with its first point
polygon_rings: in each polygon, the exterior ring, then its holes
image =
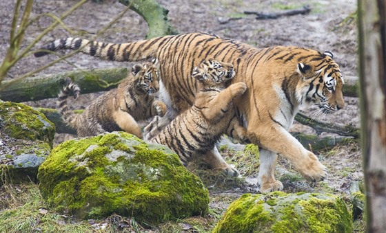
{"type": "Polygon", "coordinates": [[[66,82],[72,80],[81,86],[81,93],[106,91],[119,84],[128,74],[127,68],[88,69],[68,71],[51,76],[37,76],[1,82],[0,99],[26,102],[55,98],[66,82]]]}

